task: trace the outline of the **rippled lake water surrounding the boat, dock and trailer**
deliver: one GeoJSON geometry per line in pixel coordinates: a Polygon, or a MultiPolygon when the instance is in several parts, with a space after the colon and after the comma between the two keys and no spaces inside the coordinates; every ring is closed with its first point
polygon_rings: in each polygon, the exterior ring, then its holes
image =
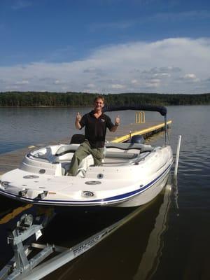
{"type": "MultiPolygon", "coordinates": [[[[210,279],[210,106],[168,106],[172,119],[169,138],[176,153],[178,135],[182,135],[177,186],[165,191],[110,237],[45,279],[210,279]]],[[[76,112],[87,108],[0,109],[0,153],[32,144],[61,141],[71,137],[76,112]]],[[[111,118],[116,112],[109,113],[111,118]]],[[[134,112],[120,112],[122,124],[134,123],[134,112]]],[[[146,113],[147,120],[162,120],[146,113]]],[[[163,134],[147,142],[163,143],[163,134]]],[[[22,204],[0,198],[0,267],[12,256],[6,245],[8,228],[18,216],[14,209],[22,204]]],[[[18,208],[17,208],[18,207],[18,208]]],[[[32,213],[34,208],[29,209],[32,213]]],[[[21,212],[21,211],[20,211],[21,212]]],[[[122,211],[122,216],[125,211],[122,211]]],[[[66,214],[65,214],[66,215],[66,214]]],[[[116,214],[117,215],[117,214],[116,214]]],[[[59,216],[45,232],[46,241],[66,245],[83,238],[88,230],[105,225],[113,214],[81,218],[73,214],[59,216]],[[103,223],[102,223],[103,221],[103,223]],[[51,228],[50,228],[51,227],[51,228]],[[85,231],[83,230],[85,228],[85,231]]]]}

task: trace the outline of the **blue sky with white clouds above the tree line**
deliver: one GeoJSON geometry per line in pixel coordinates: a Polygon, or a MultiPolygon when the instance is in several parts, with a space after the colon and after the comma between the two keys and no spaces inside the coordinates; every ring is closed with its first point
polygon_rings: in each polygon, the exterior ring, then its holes
{"type": "Polygon", "coordinates": [[[209,0],[0,0],[0,92],[210,92],[209,0]]]}

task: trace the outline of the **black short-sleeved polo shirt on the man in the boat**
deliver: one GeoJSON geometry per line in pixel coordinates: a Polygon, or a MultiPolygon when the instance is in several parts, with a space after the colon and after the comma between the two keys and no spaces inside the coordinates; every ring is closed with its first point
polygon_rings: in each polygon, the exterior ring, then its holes
{"type": "Polygon", "coordinates": [[[111,130],[114,126],[111,118],[102,113],[99,118],[94,116],[94,111],[87,113],[80,120],[81,128],[85,127],[85,139],[92,148],[103,148],[106,137],[106,127],[111,130]]]}

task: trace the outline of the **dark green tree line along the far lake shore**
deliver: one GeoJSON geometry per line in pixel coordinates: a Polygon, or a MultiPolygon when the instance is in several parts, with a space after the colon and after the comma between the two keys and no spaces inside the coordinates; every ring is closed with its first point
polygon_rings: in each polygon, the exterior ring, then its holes
{"type": "MultiPolygon", "coordinates": [[[[98,94],[85,92],[0,92],[0,106],[92,106],[98,94]]],[[[106,105],[203,105],[210,104],[210,93],[158,94],[120,93],[102,94],[106,105]]]]}

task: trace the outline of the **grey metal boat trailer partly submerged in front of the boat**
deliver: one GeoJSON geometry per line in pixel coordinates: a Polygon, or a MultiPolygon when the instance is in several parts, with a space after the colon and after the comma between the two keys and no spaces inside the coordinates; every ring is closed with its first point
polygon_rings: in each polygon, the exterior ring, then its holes
{"type": "Polygon", "coordinates": [[[38,224],[38,217],[36,217],[35,223],[31,214],[24,214],[20,221],[18,221],[15,230],[8,235],[8,244],[13,247],[14,256],[1,269],[0,279],[42,279],[44,276],[55,271],[55,269],[62,267],[62,265],[90,250],[99,241],[111,235],[112,232],[138,213],[139,209],[71,248],[37,243],[36,241],[41,237],[41,230],[45,227],[47,220],[45,219],[42,223],[38,224]],[[38,251],[38,253],[34,251],[38,251]],[[48,260],[45,260],[46,258],[48,260]]]}

